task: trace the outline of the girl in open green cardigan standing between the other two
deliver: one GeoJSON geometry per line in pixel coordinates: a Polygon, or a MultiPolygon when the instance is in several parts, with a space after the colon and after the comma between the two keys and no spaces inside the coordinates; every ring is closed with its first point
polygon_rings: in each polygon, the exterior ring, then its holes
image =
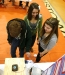
{"type": "Polygon", "coordinates": [[[27,23],[27,25],[29,25],[32,32],[31,51],[33,51],[32,47],[36,39],[36,33],[38,32],[39,37],[39,32],[42,27],[42,15],[39,13],[39,5],[37,3],[32,3],[30,4],[30,7],[28,9],[28,14],[24,18],[25,22],[27,23]]]}

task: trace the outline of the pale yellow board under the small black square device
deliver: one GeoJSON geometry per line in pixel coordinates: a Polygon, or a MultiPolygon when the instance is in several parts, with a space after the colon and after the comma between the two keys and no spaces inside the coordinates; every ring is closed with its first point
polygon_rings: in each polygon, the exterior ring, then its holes
{"type": "Polygon", "coordinates": [[[4,75],[25,75],[25,59],[24,58],[6,58],[4,75]],[[12,71],[12,65],[18,65],[17,71],[12,71]]]}

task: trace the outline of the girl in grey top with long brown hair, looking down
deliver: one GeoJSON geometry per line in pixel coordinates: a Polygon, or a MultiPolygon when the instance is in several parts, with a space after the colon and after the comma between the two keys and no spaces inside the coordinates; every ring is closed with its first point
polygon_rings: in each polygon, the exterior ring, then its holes
{"type": "Polygon", "coordinates": [[[59,21],[56,18],[48,18],[42,27],[38,48],[39,52],[36,58],[36,62],[39,62],[41,57],[44,56],[52,49],[58,40],[58,24],[59,21]]]}

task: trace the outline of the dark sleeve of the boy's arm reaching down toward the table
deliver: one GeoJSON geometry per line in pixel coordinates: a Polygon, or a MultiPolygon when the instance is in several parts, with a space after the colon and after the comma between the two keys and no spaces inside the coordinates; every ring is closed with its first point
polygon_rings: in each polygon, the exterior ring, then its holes
{"type": "Polygon", "coordinates": [[[26,52],[29,52],[31,49],[32,43],[32,34],[29,26],[27,25],[27,34],[26,34],[26,52]]]}

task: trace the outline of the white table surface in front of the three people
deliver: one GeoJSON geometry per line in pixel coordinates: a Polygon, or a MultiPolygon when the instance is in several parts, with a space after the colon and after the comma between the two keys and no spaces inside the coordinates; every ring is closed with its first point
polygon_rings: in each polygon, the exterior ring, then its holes
{"type": "MultiPolygon", "coordinates": [[[[26,65],[26,68],[30,67],[37,67],[40,68],[41,70],[45,71],[48,67],[50,67],[53,63],[55,62],[44,62],[44,63],[32,63],[32,61],[28,61],[26,65]]],[[[5,64],[0,64],[0,69],[4,70],[5,64]]]]}

